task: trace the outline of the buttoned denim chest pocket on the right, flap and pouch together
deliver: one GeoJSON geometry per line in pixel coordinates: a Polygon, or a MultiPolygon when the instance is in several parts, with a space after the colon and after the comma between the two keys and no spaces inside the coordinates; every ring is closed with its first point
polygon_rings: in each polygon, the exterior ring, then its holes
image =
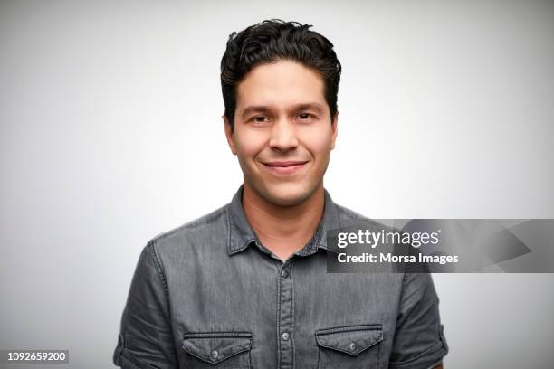
{"type": "Polygon", "coordinates": [[[338,326],[315,332],[319,345],[319,369],[377,369],[381,325],[338,326]]]}

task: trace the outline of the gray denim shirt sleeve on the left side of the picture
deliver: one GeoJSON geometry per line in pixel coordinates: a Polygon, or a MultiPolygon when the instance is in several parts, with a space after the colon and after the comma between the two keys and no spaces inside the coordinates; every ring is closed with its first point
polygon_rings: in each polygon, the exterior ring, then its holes
{"type": "Polygon", "coordinates": [[[123,369],[178,367],[167,283],[154,241],[140,254],[118,338],[113,363],[123,369]]]}

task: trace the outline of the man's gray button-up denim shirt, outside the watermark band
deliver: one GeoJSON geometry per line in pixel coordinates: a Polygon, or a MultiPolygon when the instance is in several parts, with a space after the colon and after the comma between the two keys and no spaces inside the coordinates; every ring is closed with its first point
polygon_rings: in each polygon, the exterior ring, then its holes
{"type": "Polygon", "coordinates": [[[431,274],[327,273],[327,230],[361,219],[325,191],[282,262],[231,203],[143,249],[113,362],[131,368],[411,369],[448,353],[431,274]]]}

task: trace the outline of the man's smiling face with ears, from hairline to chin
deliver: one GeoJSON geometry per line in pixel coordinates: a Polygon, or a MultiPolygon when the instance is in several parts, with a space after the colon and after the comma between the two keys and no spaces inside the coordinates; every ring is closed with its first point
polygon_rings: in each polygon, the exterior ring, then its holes
{"type": "Polygon", "coordinates": [[[259,65],[237,86],[234,132],[224,118],[225,134],[244,185],[270,203],[302,203],[323,184],[338,124],[323,89],[294,61],[259,65]]]}

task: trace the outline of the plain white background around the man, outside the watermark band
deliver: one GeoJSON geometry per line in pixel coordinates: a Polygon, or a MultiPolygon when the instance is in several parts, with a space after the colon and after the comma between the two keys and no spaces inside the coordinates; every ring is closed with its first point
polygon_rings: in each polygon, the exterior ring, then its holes
{"type": "MultiPolygon", "coordinates": [[[[554,217],[551,2],[2,1],[0,349],[111,366],[139,251],[242,182],[219,63],[270,18],[313,24],[342,63],[335,202],[554,217]]],[[[552,367],[552,282],[435,275],[445,367],[552,367]]]]}

